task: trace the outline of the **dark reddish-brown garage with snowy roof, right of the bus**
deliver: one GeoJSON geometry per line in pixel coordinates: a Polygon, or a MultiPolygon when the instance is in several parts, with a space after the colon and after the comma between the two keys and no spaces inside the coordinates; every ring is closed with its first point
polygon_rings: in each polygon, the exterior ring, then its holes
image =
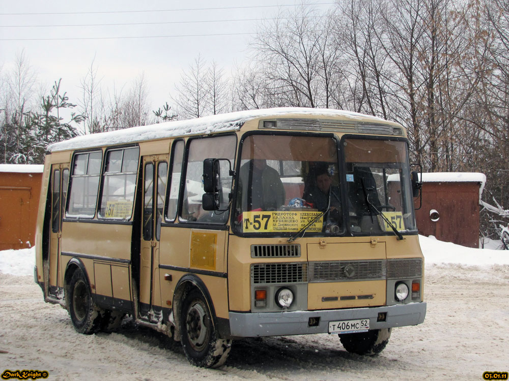
{"type": "Polygon", "coordinates": [[[422,206],[415,211],[419,234],[479,247],[479,200],[485,183],[482,173],[423,173],[422,206]]]}

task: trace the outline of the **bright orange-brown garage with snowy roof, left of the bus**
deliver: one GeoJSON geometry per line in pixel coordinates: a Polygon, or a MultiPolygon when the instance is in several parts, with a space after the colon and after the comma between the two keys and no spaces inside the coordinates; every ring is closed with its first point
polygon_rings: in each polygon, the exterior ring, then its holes
{"type": "Polygon", "coordinates": [[[42,165],[0,165],[0,250],[35,245],[42,165]]]}

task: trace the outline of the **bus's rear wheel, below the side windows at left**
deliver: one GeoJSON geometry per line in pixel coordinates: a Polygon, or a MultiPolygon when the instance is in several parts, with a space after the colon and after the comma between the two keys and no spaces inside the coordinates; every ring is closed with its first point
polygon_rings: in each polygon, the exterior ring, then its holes
{"type": "Polygon", "coordinates": [[[69,315],[78,333],[90,335],[101,326],[103,311],[92,301],[90,285],[81,269],[76,269],[69,283],[69,315]]]}

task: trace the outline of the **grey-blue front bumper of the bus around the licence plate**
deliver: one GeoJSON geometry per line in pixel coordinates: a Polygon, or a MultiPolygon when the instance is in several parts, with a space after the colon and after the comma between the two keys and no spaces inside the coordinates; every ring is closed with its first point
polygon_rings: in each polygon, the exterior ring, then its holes
{"type": "Polygon", "coordinates": [[[329,322],[370,319],[370,329],[415,326],[424,321],[426,302],[382,307],[290,312],[230,312],[232,336],[257,337],[328,333],[329,322]],[[378,314],[386,319],[379,322],[378,314]],[[309,327],[310,317],[320,317],[318,326],[309,327]]]}

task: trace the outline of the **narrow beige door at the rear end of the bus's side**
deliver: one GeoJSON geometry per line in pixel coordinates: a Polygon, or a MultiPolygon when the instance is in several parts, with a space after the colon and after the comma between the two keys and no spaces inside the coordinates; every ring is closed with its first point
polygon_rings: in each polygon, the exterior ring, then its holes
{"type": "Polygon", "coordinates": [[[63,164],[51,166],[51,230],[49,233],[49,263],[45,274],[48,279],[48,294],[57,297],[63,283],[59,269],[62,251],[62,216],[65,213],[69,168],[63,164]]]}

